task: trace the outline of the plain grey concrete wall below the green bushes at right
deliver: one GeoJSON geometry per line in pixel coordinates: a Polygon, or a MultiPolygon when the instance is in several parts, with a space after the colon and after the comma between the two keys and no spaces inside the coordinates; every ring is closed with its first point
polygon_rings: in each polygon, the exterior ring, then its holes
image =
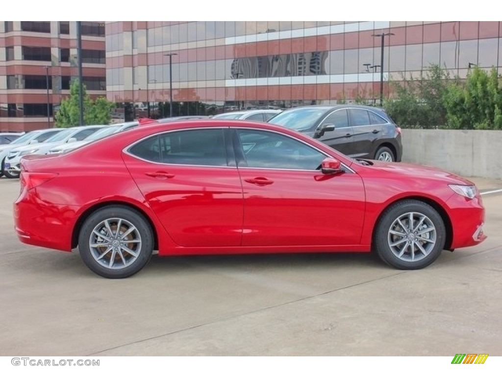
{"type": "Polygon", "coordinates": [[[502,131],[403,129],[403,162],[502,178],[502,131]]]}

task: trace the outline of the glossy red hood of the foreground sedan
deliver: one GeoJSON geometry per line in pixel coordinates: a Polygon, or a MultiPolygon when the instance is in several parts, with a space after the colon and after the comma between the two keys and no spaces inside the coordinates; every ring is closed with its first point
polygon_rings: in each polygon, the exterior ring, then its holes
{"type": "Polygon", "coordinates": [[[442,181],[448,181],[449,183],[454,184],[474,184],[468,179],[465,179],[457,174],[440,169],[438,167],[415,165],[403,162],[383,162],[375,160],[371,160],[370,162],[372,163],[372,165],[365,167],[371,170],[378,169],[380,171],[386,171],[393,175],[427,177],[442,181]]]}

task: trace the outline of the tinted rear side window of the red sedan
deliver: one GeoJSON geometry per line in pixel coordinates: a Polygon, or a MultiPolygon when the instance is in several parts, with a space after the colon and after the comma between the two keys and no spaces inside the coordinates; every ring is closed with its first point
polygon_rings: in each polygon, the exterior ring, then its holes
{"type": "Polygon", "coordinates": [[[181,165],[226,166],[222,129],[168,132],[143,140],[129,152],[148,161],[181,165]]]}

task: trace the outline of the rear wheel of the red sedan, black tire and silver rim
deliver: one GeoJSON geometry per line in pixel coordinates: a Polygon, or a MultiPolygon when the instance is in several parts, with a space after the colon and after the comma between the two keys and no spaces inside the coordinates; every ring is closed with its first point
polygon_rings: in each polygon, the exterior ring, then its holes
{"type": "Polygon", "coordinates": [[[83,262],[93,272],[107,278],[129,277],[139,272],[150,260],[153,245],[153,232],[148,221],[137,211],[123,206],[104,207],[91,214],[78,237],[83,262]],[[117,235],[118,226],[120,233],[117,235]],[[103,236],[98,236],[94,230],[103,236]],[[130,233],[121,240],[122,234],[128,231],[130,233]],[[91,244],[102,246],[92,247],[91,244]],[[111,267],[110,259],[113,259],[111,267]]]}

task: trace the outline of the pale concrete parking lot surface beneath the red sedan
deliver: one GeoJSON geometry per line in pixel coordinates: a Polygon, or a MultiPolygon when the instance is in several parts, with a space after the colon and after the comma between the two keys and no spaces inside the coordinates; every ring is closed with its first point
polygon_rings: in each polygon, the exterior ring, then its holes
{"type": "Polygon", "coordinates": [[[17,179],[0,179],[0,355],[502,355],[502,181],[471,178],[480,245],[401,271],[368,254],[154,256],[92,273],[24,245],[17,179]]]}

